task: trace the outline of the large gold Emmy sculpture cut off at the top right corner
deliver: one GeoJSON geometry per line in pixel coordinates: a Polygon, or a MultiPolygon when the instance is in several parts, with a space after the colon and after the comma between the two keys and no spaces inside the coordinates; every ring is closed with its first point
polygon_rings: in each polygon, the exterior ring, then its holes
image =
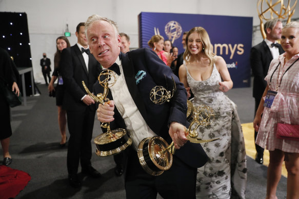
{"type": "Polygon", "coordinates": [[[295,6],[297,4],[297,0],[295,0],[292,6],[291,6],[291,0],[288,0],[287,2],[288,3],[285,5],[284,0],[277,0],[273,4],[272,4],[272,0],[258,0],[257,13],[258,13],[258,17],[260,18],[260,29],[264,39],[266,38],[266,33],[264,30],[263,20],[281,18],[281,19],[287,19],[287,24],[290,23],[291,16],[295,12],[295,6]],[[261,8],[261,12],[260,10],[258,10],[259,8],[261,8]],[[275,10],[275,8],[278,8],[277,11],[275,10]],[[266,14],[268,14],[268,16],[266,16],[266,14]]]}

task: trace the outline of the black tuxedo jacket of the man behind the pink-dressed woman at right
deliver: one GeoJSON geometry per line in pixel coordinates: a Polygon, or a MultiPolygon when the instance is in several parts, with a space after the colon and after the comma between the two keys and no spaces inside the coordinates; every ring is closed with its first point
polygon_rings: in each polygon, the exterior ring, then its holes
{"type": "MultiPolygon", "coordinates": [[[[280,54],[284,53],[282,46],[278,47],[280,54]]],[[[267,82],[264,80],[268,70],[270,62],[273,57],[266,41],[258,43],[258,45],[251,48],[250,51],[250,66],[254,76],[253,79],[253,97],[261,99],[266,89],[267,82]]]]}

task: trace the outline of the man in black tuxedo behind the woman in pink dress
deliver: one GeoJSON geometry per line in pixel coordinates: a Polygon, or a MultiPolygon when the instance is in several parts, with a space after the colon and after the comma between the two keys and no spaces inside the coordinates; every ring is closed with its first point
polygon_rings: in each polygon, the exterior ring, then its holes
{"type": "MultiPolygon", "coordinates": [[[[276,42],[282,36],[282,22],[279,19],[268,20],[264,25],[266,38],[258,45],[251,48],[250,51],[250,65],[253,79],[253,97],[255,98],[254,115],[258,105],[260,104],[263,93],[266,89],[267,82],[264,80],[269,69],[272,59],[277,59],[278,56],[284,53],[282,46],[276,42]]],[[[254,141],[257,132],[254,131],[254,141]]],[[[255,161],[258,164],[263,164],[264,148],[255,144],[256,157],[255,161]]]]}

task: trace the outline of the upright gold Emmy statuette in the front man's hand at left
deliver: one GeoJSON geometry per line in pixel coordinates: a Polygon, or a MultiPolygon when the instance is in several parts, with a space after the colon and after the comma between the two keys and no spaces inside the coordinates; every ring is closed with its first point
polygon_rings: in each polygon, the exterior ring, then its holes
{"type": "MultiPolygon", "coordinates": [[[[116,76],[110,70],[104,70],[98,76],[99,84],[104,87],[103,94],[97,94],[94,96],[88,90],[87,86],[85,85],[84,81],[82,84],[84,86],[85,91],[87,94],[95,101],[101,104],[108,103],[109,99],[106,98],[108,95],[108,88],[113,86],[116,82],[116,76]],[[101,81],[101,77],[105,77],[103,81],[101,81]],[[110,82],[110,83],[109,83],[110,82]]],[[[110,156],[113,154],[117,154],[125,150],[128,146],[132,144],[132,139],[127,135],[127,131],[123,128],[117,128],[115,130],[110,129],[110,123],[102,123],[101,126],[103,128],[107,128],[107,132],[97,136],[94,139],[94,143],[96,145],[95,153],[97,156],[110,156]]]]}

